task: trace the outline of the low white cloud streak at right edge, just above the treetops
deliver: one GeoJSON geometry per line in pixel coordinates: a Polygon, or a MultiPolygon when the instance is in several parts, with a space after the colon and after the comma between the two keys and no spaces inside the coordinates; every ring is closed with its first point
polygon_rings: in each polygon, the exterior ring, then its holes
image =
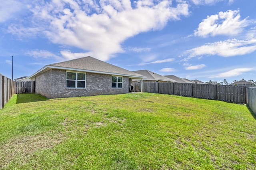
{"type": "Polygon", "coordinates": [[[253,70],[255,70],[255,68],[237,68],[237,69],[232,69],[230,71],[226,71],[226,72],[223,72],[223,73],[219,73],[219,74],[214,75],[214,76],[210,76],[209,78],[234,77],[234,76],[242,75],[245,72],[253,71],[253,70]]]}

